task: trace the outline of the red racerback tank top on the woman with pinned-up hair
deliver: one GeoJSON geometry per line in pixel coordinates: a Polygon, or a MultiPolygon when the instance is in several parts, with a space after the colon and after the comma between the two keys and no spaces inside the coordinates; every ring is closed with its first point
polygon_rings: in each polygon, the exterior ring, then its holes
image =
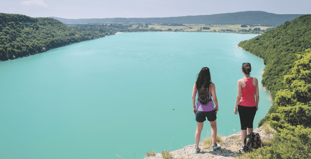
{"type": "Polygon", "coordinates": [[[245,87],[242,88],[241,100],[239,102],[239,105],[246,107],[256,107],[256,86],[254,86],[253,84],[253,77],[250,79],[242,78],[242,80],[245,82],[245,87]]]}

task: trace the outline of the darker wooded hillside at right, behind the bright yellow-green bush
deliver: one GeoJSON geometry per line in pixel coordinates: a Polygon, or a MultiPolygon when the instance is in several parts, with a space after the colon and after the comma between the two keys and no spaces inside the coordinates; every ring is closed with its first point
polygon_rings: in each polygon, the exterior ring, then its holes
{"type": "MultiPolygon", "coordinates": [[[[262,75],[262,84],[270,92],[274,100],[283,85],[284,75],[297,60],[295,54],[304,54],[304,50],[311,48],[311,15],[303,15],[290,22],[259,35],[253,39],[241,41],[238,45],[245,50],[263,58],[266,68],[262,75]]],[[[275,112],[272,106],[269,112],[275,112]]]]}

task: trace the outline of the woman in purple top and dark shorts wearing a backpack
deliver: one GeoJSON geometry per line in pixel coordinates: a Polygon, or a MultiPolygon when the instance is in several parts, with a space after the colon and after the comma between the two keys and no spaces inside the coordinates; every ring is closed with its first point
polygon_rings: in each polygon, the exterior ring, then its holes
{"type": "Polygon", "coordinates": [[[197,121],[197,131],[195,133],[195,153],[199,153],[199,143],[201,137],[201,131],[203,129],[203,123],[207,120],[211,124],[211,135],[212,135],[212,149],[217,151],[220,149],[220,145],[216,143],[216,114],[218,109],[218,102],[216,97],[215,84],[211,81],[210,69],[203,67],[199,74],[197,74],[197,81],[193,86],[192,91],[192,104],[193,104],[193,113],[195,114],[197,121]],[[198,97],[197,106],[196,106],[196,94],[198,97]],[[213,97],[213,98],[211,98],[213,97]],[[216,105],[214,108],[213,101],[216,105]]]}

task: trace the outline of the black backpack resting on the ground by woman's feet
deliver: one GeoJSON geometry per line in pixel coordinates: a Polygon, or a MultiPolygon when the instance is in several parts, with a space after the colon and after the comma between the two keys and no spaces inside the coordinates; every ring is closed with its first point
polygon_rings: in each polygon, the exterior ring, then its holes
{"type": "Polygon", "coordinates": [[[244,152],[251,152],[253,149],[261,148],[261,139],[258,133],[248,134],[244,139],[244,143],[246,143],[246,139],[248,139],[248,142],[243,147],[244,152]]]}

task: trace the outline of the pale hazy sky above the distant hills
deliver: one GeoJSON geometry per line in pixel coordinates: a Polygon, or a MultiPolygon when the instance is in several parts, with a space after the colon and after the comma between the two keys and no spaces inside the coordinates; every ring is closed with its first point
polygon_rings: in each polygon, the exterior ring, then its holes
{"type": "Polygon", "coordinates": [[[197,16],[239,11],[311,14],[311,0],[0,0],[0,13],[67,19],[197,16]]]}

